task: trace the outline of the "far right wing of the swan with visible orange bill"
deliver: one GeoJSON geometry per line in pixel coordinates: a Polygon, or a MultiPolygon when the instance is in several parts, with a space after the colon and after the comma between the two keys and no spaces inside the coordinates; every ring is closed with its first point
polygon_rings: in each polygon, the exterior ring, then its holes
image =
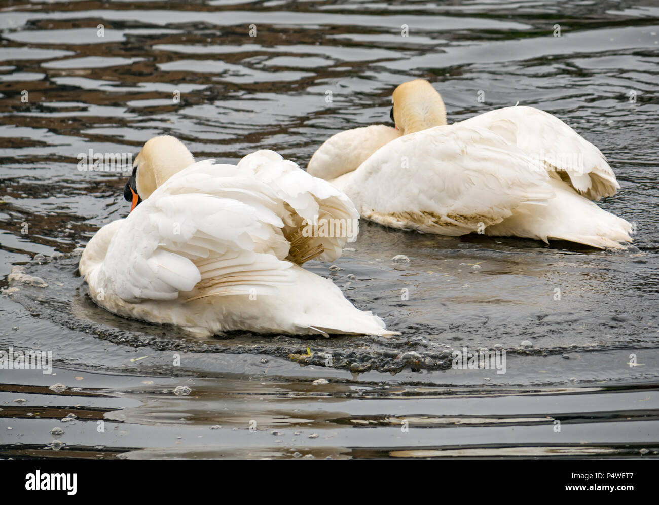
{"type": "Polygon", "coordinates": [[[291,211],[291,219],[283,227],[291,244],[289,260],[297,264],[313,258],[335,260],[347,242],[357,239],[357,209],[328,181],[266,149],[245,156],[238,168],[268,185],[291,211]]]}

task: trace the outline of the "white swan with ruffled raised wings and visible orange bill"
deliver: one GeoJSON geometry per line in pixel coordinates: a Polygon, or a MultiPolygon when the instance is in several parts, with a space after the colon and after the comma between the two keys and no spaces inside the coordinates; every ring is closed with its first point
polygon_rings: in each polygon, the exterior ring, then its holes
{"type": "Polygon", "coordinates": [[[300,266],[340,256],[355,240],[358,214],[345,194],[279,154],[260,150],[237,166],[194,163],[176,138],[154,137],[135,159],[125,196],[132,212],[103,226],[80,258],[104,309],[198,336],[395,334],[300,266]],[[314,219],[346,223],[343,235],[317,236],[328,233],[305,227],[314,219]]]}

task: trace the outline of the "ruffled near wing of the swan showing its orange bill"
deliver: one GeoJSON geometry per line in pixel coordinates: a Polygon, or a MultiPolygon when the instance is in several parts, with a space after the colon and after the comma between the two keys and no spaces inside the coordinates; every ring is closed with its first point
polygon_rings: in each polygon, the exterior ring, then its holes
{"type": "Polygon", "coordinates": [[[132,303],[276,293],[291,283],[287,214],[267,185],[235,166],[194,163],[116,226],[95,284],[132,303]]]}

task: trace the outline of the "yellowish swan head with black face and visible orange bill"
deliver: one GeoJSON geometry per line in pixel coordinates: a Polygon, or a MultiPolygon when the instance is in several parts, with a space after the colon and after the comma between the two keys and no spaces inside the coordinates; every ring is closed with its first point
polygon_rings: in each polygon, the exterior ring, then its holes
{"type": "Polygon", "coordinates": [[[132,203],[130,211],[169,177],[192,163],[192,153],[178,138],[161,135],[147,140],[132,163],[132,174],[124,188],[124,198],[132,203]]]}

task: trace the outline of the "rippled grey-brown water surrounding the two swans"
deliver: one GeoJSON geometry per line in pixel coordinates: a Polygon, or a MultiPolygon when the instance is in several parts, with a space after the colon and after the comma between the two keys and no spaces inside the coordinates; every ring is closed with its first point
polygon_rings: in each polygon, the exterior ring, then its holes
{"type": "Polygon", "coordinates": [[[0,30],[0,350],[55,361],[0,370],[0,458],[659,454],[656,1],[5,1],[0,30]],[[600,205],[638,251],[362,222],[343,270],[307,266],[391,339],[193,340],[86,296],[76,248],[129,208],[125,174],[78,154],[173,134],[199,159],[305,167],[331,134],[387,123],[415,77],[449,122],[519,102],[596,144],[621,184],[600,205]],[[16,265],[47,287],[9,282],[16,265]],[[505,374],[451,369],[495,345],[505,374]]]}

